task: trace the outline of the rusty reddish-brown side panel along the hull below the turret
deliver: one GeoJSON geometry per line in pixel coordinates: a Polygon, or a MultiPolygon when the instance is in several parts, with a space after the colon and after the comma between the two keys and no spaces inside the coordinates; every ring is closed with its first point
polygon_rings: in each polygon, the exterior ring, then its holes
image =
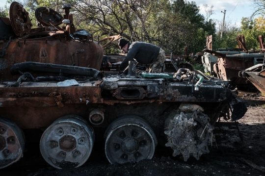
{"type": "Polygon", "coordinates": [[[64,104],[88,103],[103,103],[99,86],[0,88],[0,107],[63,107],[64,104]]]}

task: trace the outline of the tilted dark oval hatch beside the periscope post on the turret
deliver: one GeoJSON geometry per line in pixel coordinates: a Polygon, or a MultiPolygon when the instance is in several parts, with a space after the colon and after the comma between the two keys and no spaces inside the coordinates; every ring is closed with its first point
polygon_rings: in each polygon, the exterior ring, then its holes
{"type": "Polygon", "coordinates": [[[43,26],[60,25],[63,20],[63,17],[58,12],[48,7],[37,8],[35,17],[43,26]]]}

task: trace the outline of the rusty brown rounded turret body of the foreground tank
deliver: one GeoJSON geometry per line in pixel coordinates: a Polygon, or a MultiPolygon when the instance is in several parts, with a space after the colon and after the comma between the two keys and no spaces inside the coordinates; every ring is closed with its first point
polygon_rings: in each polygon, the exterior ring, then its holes
{"type": "Polygon", "coordinates": [[[10,75],[10,68],[17,62],[25,61],[60,65],[76,63],[76,66],[100,70],[104,55],[100,44],[95,41],[66,41],[61,35],[64,33],[39,32],[11,41],[0,62],[0,78],[17,80],[18,76],[10,75]]]}

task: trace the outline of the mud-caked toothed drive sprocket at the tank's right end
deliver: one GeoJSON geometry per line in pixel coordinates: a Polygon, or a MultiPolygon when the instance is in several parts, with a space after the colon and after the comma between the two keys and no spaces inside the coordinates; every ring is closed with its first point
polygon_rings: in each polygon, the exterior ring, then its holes
{"type": "Polygon", "coordinates": [[[182,154],[184,161],[190,155],[199,160],[203,153],[209,152],[207,144],[213,141],[214,127],[208,120],[207,115],[196,110],[192,113],[176,114],[170,120],[168,130],[164,131],[168,137],[165,146],[174,150],[173,156],[182,154]]]}

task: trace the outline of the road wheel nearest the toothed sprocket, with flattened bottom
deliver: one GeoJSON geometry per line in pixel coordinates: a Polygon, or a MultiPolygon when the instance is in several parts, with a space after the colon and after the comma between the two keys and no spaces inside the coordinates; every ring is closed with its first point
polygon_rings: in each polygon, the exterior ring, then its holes
{"type": "Polygon", "coordinates": [[[111,164],[151,159],[158,144],[151,126],[133,115],[114,120],[104,137],[106,157],[111,164]]]}

